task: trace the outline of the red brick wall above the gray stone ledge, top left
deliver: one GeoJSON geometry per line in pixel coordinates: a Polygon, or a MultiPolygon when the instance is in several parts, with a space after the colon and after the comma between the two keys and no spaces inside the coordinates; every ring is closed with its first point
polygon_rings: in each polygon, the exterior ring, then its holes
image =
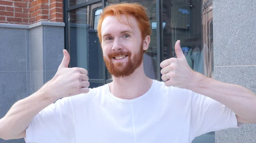
{"type": "Polygon", "coordinates": [[[0,0],[0,23],[63,22],[63,0],[0,0]]]}

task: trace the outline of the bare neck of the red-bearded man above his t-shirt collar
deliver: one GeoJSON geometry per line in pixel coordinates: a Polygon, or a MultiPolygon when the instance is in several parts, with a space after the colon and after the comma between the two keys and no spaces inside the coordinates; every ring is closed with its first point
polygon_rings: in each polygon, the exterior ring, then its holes
{"type": "Polygon", "coordinates": [[[123,99],[134,99],[145,94],[151,87],[153,80],[149,79],[143,70],[143,64],[130,76],[116,78],[109,84],[110,92],[123,99]]]}

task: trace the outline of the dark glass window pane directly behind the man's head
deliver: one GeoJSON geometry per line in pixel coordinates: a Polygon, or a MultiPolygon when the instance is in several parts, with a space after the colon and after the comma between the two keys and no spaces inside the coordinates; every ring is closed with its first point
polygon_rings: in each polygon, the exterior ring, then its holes
{"type": "MultiPolygon", "coordinates": [[[[156,35],[156,27],[157,27],[157,18],[156,18],[156,3],[154,0],[108,0],[107,6],[114,3],[122,3],[122,2],[133,2],[133,3],[141,3],[148,10],[148,17],[151,22],[151,28],[154,30],[151,35],[151,42],[149,44],[148,50],[143,55],[143,66],[144,72],[146,76],[151,79],[157,79],[157,35],[156,35]]],[[[112,79],[110,73],[107,74],[108,79],[112,79]]]]}

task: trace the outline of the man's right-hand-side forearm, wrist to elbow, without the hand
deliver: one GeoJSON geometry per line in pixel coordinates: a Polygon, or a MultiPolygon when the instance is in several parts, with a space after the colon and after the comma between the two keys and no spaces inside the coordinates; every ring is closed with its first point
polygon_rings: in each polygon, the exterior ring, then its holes
{"type": "Polygon", "coordinates": [[[195,74],[191,90],[208,96],[232,109],[237,116],[249,123],[256,123],[256,95],[244,87],[227,84],[195,74]]]}

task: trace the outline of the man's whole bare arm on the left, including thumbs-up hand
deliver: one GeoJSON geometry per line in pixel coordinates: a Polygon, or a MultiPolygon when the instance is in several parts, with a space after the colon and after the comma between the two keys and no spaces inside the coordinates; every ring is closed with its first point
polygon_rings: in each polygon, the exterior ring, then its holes
{"type": "Polygon", "coordinates": [[[9,140],[25,137],[26,128],[41,110],[59,98],[89,92],[87,70],[68,68],[69,59],[67,50],[64,50],[64,58],[53,79],[38,92],[17,101],[0,119],[0,138],[9,140]]]}

